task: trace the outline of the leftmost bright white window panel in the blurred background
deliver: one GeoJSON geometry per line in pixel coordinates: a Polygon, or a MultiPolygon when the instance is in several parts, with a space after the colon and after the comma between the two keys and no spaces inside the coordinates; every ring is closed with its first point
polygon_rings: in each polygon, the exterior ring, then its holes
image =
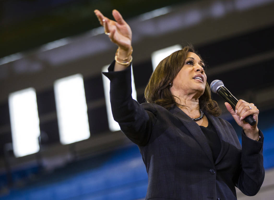
{"type": "Polygon", "coordinates": [[[15,157],[38,152],[40,127],[35,89],[27,88],[11,93],[8,106],[15,157]]]}

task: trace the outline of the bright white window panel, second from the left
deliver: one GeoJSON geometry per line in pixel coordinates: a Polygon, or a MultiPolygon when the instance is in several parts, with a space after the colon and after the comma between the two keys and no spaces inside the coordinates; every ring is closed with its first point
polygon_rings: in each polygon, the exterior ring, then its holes
{"type": "Polygon", "coordinates": [[[61,144],[90,137],[84,81],[75,74],[54,82],[54,93],[61,144]]]}

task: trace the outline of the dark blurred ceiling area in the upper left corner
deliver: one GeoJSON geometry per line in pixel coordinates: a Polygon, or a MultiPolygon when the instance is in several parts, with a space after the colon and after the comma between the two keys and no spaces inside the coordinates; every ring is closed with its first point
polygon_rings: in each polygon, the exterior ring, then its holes
{"type": "Polygon", "coordinates": [[[98,27],[98,20],[93,13],[95,9],[110,18],[115,8],[123,14],[124,19],[129,19],[187,1],[2,0],[0,58],[98,27]]]}

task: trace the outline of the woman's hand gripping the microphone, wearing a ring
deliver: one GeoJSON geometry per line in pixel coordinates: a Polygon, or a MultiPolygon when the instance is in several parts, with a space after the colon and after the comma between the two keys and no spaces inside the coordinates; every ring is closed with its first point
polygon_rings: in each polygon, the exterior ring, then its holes
{"type": "Polygon", "coordinates": [[[259,138],[259,129],[257,127],[258,124],[258,114],[259,110],[253,103],[248,103],[242,99],[240,99],[236,105],[235,111],[231,107],[229,103],[225,103],[227,110],[230,112],[236,123],[244,129],[247,137],[257,140],[259,138]],[[256,120],[256,124],[251,126],[249,123],[244,121],[244,118],[252,115],[256,120]]]}

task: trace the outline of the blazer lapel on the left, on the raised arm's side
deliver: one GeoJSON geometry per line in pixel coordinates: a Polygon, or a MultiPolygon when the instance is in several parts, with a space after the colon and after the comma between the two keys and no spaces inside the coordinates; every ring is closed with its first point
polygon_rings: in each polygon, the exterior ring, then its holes
{"type": "Polygon", "coordinates": [[[195,140],[199,143],[199,145],[202,147],[204,152],[206,153],[209,160],[214,163],[213,161],[213,155],[212,151],[209,147],[209,144],[207,143],[206,136],[202,132],[199,125],[193,121],[187,114],[185,114],[180,108],[175,106],[175,108],[170,109],[170,112],[175,115],[183,124],[184,126],[189,130],[189,132],[193,135],[195,140]]]}

